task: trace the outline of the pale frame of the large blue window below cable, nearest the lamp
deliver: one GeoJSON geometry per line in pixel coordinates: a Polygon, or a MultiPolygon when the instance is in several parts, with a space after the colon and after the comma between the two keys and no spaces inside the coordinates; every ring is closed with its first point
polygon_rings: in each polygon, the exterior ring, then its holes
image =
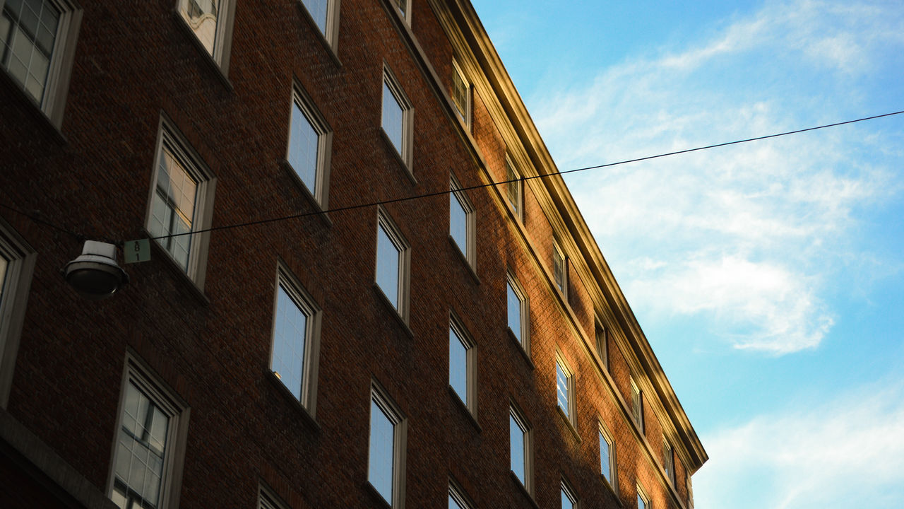
{"type": "MultiPolygon", "coordinates": [[[[279,306],[279,288],[282,287],[288,295],[289,299],[294,303],[298,311],[306,316],[305,337],[305,358],[302,360],[302,379],[301,387],[298,388],[301,398],[298,403],[306,408],[307,413],[312,418],[316,416],[317,407],[317,374],[320,365],[320,324],[323,317],[323,310],[318,306],[310,293],[307,293],[304,286],[298,282],[297,278],[287,266],[282,262],[278,263],[276,286],[273,295],[273,326],[270,331],[270,370],[284,384],[289,392],[294,389],[285,385],[286,381],[273,370],[273,356],[277,351],[276,338],[276,322],[279,306]]],[[[293,392],[293,396],[294,396],[293,392]]]]}

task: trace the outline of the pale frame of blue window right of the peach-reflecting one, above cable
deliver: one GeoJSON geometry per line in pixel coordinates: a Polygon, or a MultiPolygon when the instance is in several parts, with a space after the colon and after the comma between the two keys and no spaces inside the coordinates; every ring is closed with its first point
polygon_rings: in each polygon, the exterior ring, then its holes
{"type": "Polygon", "coordinates": [[[333,147],[333,130],[330,130],[326,124],[323,115],[314,106],[310,96],[302,88],[301,84],[294,82],[292,86],[292,101],[289,107],[288,117],[288,133],[286,139],[286,162],[292,168],[293,177],[297,183],[301,185],[314,198],[314,201],[321,207],[326,209],[329,199],[329,179],[330,179],[330,159],[333,147]],[[295,108],[301,110],[301,114],[305,117],[311,128],[317,133],[317,155],[314,169],[314,188],[308,187],[307,183],[298,173],[298,168],[292,166],[292,115],[295,114],[295,108]]]}

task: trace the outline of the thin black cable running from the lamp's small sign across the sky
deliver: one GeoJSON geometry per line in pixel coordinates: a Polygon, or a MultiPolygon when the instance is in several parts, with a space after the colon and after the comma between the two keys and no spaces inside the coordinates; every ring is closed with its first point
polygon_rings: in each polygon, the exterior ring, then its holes
{"type": "Polygon", "coordinates": [[[862,122],[862,121],[864,121],[864,120],[881,119],[882,117],[890,117],[890,116],[892,116],[892,115],[900,115],[901,113],[904,113],[904,110],[894,111],[894,112],[891,112],[891,113],[883,113],[883,114],[881,114],[881,115],[873,115],[873,116],[871,116],[871,117],[863,117],[862,119],[856,119],[856,120],[844,120],[843,122],[835,122],[835,123],[832,123],[832,124],[825,124],[825,125],[822,125],[822,126],[816,126],[816,127],[811,127],[811,128],[805,128],[805,129],[799,129],[799,130],[789,130],[789,131],[786,131],[786,132],[779,132],[779,133],[777,133],[777,134],[768,134],[768,135],[766,135],[766,136],[758,136],[758,137],[756,137],[756,138],[738,139],[738,140],[735,140],[735,141],[727,141],[727,142],[725,142],[725,143],[717,143],[717,144],[715,144],[715,145],[707,145],[707,146],[705,146],[705,147],[697,147],[697,148],[695,148],[695,149],[676,150],[676,151],[674,151],[674,152],[667,152],[667,153],[664,153],[664,154],[657,154],[657,155],[655,155],[655,156],[646,156],[646,157],[644,157],[644,158],[626,159],[626,160],[618,161],[618,162],[614,162],[614,163],[601,164],[601,165],[597,165],[597,166],[589,166],[589,167],[585,167],[585,168],[567,169],[567,170],[565,170],[565,171],[555,171],[555,172],[552,172],[552,173],[543,173],[543,174],[539,174],[539,175],[534,175],[534,176],[532,176],[532,177],[521,177],[521,178],[515,178],[515,179],[513,179],[513,180],[503,180],[503,181],[500,181],[500,182],[492,182],[492,183],[490,183],[490,184],[478,184],[478,185],[476,185],[476,186],[459,187],[459,188],[457,188],[457,189],[448,189],[448,190],[442,190],[442,191],[434,191],[434,192],[431,192],[431,193],[425,193],[425,194],[423,194],[423,195],[415,195],[415,196],[413,196],[413,197],[391,198],[391,199],[381,200],[381,201],[372,202],[372,203],[365,203],[365,204],[360,204],[360,205],[340,206],[340,207],[338,207],[338,208],[331,208],[331,209],[329,209],[329,210],[315,210],[315,211],[312,211],[312,212],[302,212],[302,213],[300,213],[300,214],[293,214],[293,215],[291,215],[291,216],[270,217],[270,218],[268,218],[268,219],[260,219],[260,220],[258,220],[258,221],[248,221],[248,222],[245,222],[245,223],[238,223],[238,224],[235,224],[235,225],[212,226],[212,227],[210,227],[210,228],[205,228],[205,229],[202,229],[202,230],[195,230],[195,231],[192,231],[192,232],[185,232],[185,233],[182,233],[182,234],[173,234],[173,235],[160,235],[160,236],[155,236],[155,237],[151,237],[151,239],[153,239],[153,240],[159,240],[159,239],[169,238],[169,237],[175,237],[175,236],[201,234],[201,233],[213,232],[213,231],[217,231],[217,230],[226,230],[226,229],[231,229],[231,228],[240,228],[240,227],[244,227],[244,226],[264,225],[264,224],[266,224],[266,223],[273,223],[273,222],[276,222],[276,221],[287,221],[287,220],[289,220],[289,219],[298,219],[298,218],[301,218],[301,217],[307,217],[307,216],[319,216],[319,215],[321,215],[321,214],[327,214],[327,213],[331,213],[331,212],[344,212],[344,211],[346,211],[346,210],[355,210],[355,209],[358,209],[358,208],[365,208],[365,207],[368,207],[368,206],[379,206],[379,205],[386,205],[386,204],[390,204],[390,203],[399,203],[399,202],[402,202],[402,201],[409,201],[409,200],[414,200],[414,199],[419,199],[419,198],[438,197],[438,196],[447,195],[447,194],[453,193],[453,192],[469,191],[469,190],[471,190],[471,189],[481,189],[481,188],[484,188],[484,187],[491,187],[491,186],[502,186],[502,185],[504,185],[504,184],[508,184],[508,183],[511,183],[511,182],[524,181],[524,180],[531,180],[532,178],[545,178],[545,177],[552,177],[552,176],[554,176],[554,175],[567,175],[567,174],[569,174],[569,173],[577,173],[577,172],[579,172],[579,171],[587,171],[587,170],[589,170],[589,169],[608,168],[608,167],[612,167],[612,166],[618,166],[618,165],[623,165],[623,164],[628,164],[628,163],[634,163],[634,162],[638,162],[638,161],[645,161],[645,160],[649,160],[649,159],[665,158],[665,157],[668,157],[668,156],[675,156],[675,155],[678,155],[678,154],[686,154],[686,153],[688,153],[688,152],[696,152],[696,151],[699,151],[699,150],[716,149],[716,148],[719,148],[719,147],[726,147],[726,146],[729,146],[729,145],[737,145],[737,144],[739,144],[739,143],[748,143],[749,141],[758,141],[758,140],[760,140],[760,139],[778,138],[778,137],[780,137],[780,136],[788,136],[788,135],[791,135],[791,134],[798,134],[798,133],[806,132],[806,131],[810,131],[810,130],[821,130],[821,129],[826,129],[826,128],[830,128],[830,127],[837,127],[837,126],[842,126],[842,125],[845,125],[845,124],[852,124],[852,123],[855,123],[855,122],[862,122]]]}

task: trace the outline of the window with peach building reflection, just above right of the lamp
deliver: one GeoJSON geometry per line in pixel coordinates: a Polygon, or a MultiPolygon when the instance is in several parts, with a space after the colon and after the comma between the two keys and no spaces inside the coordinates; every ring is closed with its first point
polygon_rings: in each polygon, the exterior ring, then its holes
{"type": "Polygon", "coordinates": [[[215,180],[201,158],[161,120],[147,231],[198,287],[203,287],[215,180]]]}

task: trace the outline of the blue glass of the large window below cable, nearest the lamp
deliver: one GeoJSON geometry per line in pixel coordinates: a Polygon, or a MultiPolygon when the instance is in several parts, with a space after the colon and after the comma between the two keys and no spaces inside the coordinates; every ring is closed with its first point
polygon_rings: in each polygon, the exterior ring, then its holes
{"type": "Polygon", "coordinates": [[[289,297],[282,284],[277,293],[273,324],[273,359],[270,368],[299,401],[304,379],[307,315],[289,297]]]}

